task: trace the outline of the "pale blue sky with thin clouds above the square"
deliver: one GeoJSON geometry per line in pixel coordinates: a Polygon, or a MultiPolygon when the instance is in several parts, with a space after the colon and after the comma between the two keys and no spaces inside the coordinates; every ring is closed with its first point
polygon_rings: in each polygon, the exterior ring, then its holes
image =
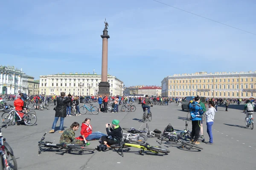
{"type": "MultiPolygon", "coordinates": [[[[254,0],[159,1],[256,34],[254,0]]],[[[173,74],[256,70],[256,35],[153,0],[9,0],[0,8],[0,64],[35,79],[101,74],[105,18],[108,73],[126,87],[161,85],[173,74]]]]}

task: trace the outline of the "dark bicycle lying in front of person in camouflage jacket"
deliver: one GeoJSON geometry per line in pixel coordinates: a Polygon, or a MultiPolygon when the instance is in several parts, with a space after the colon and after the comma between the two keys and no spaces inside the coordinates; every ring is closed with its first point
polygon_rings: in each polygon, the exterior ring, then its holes
{"type": "MultiPolygon", "coordinates": [[[[65,149],[64,153],[71,153],[72,151],[78,152],[79,154],[83,153],[84,151],[89,151],[90,153],[93,153],[93,150],[95,149],[90,149],[86,147],[85,144],[65,144],[65,143],[60,143],[60,144],[53,144],[52,142],[45,141],[45,135],[47,132],[44,133],[44,136],[41,138],[41,141],[38,142],[38,155],[40,155],[41,151],[47,151],[52,150],[53,148],[55,149],[65,149]],[[42,147],[45,147],[42,149],[42,147]]],[[[63,153],[63,154],[64,154],[63,153]]]]}

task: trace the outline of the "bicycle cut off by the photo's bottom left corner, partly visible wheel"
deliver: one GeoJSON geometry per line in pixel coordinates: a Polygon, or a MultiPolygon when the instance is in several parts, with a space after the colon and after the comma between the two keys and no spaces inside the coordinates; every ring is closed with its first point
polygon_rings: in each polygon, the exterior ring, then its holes
{"type": "Polygon", "coordinates": [[[1,163],[0,167],[2,170],[17,170],[17,161],[15,159],[14,153],[12,148],[6,142],[6,139],[3,138],[3,134],[1,129],[3,127],[7,127],[8,125],[2,125],[0,127],[0,156],[1,156],[1,163]]]}

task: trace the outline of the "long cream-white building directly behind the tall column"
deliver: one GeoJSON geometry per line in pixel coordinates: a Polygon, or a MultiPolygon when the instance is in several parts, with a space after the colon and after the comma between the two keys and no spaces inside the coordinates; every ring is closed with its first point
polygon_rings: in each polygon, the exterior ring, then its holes
{"type": "MultiPolygon", "coordinates": [[[[59,95],[61,92],[77,96],[97,96],[101,75],[70,73],[40,76],[39,94],[59,95]]],[[[123,82],[108,74],[110,95],[122,95],[123,82]]]]}

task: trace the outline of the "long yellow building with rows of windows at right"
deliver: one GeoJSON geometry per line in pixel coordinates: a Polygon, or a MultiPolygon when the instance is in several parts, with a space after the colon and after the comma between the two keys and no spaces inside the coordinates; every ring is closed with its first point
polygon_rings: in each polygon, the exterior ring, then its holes
{"type": "Polygon", "coordinates": [[[162,96],[256,97],[256,71],[175,74],[162,80],[162,96]]]}

